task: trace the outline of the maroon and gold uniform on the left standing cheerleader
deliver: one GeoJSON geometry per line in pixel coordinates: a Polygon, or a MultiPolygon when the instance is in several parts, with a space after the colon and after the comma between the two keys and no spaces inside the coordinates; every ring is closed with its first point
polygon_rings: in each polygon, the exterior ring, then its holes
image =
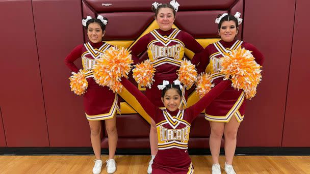
{"type": "Polygon", "coordinates": [[[119,112],[117,94],[114,94],[107,86],[99,86],[93,79],[93,66],[96,59],[100,57],[112,45],[105,42],[88,42],[76,46],[65,59],[65,64],[75,73],[79,69],[74,65],[74,61],[82,58],[83,69],[86,72],[88,88],[84,94],[84,109],[87,120],[111,119],[119,112]]]}

